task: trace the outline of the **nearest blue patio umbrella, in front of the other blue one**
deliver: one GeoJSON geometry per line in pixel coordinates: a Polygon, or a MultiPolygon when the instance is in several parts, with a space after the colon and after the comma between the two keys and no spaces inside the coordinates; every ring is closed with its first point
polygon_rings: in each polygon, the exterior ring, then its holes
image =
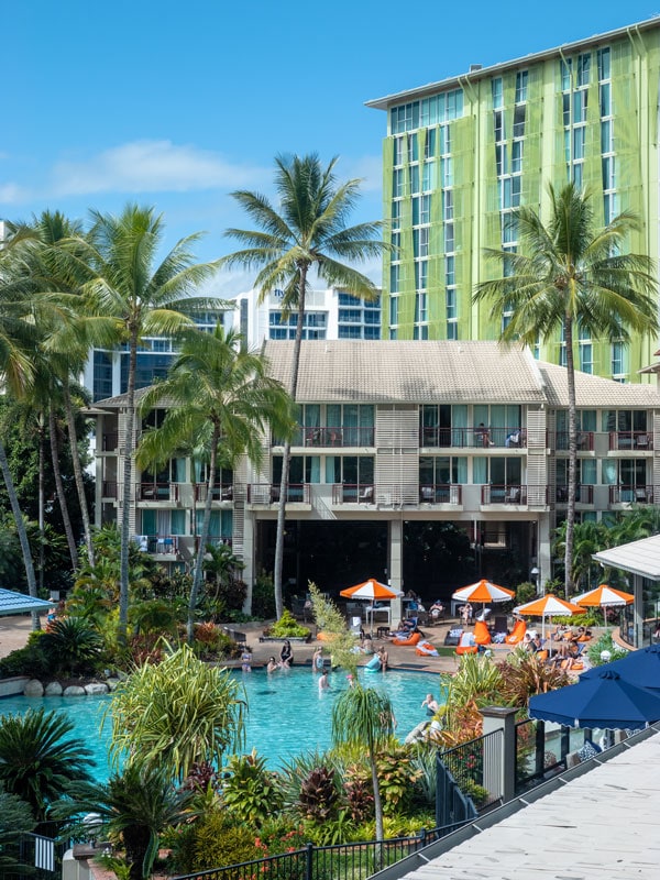
{"type": "Polygon", "coordinates": [[[565,727],[637,730],[660,719],[660,693],[639,688],[613,670],[594,670],[570,684],[529,700],[529,716],[565,727]]]}

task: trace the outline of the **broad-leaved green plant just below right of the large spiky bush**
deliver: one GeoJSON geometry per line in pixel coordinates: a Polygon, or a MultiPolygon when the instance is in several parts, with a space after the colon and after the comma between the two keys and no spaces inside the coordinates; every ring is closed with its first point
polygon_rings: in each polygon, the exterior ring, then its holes
{"type": "Polygon", "coordinates": [[[258,827],[282,807],[283,792],[277,773],[252,749],[233,755],[226,765],[222,801],[238,822],[258,827]]]}

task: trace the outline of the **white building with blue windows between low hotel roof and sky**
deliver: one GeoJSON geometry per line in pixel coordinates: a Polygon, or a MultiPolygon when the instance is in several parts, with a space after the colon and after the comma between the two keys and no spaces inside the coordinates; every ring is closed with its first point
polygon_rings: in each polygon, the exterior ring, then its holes
{"type": "MultiPolygon", "coordinates": [[[[235,309],[226,312],[226,327],[240,332],[251,348],[264,340],[294,339],[297,314],[282,315],[282,290],[262,302],[257,290],[234,298],[235,309]]],[[[305,298],[302,339],[381,339],[381,298],[366,301],[329,288],[309,290],[305,298]]]]}

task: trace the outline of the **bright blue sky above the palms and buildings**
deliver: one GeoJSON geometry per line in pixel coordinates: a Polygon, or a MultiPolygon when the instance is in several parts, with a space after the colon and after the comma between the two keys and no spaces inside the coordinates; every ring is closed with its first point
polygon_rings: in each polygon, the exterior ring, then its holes
{"type": "MultiPolygon", "coordinates": [[[[354,220],[382,216],[385,113],[364,101],[658,13],[648,0],[406,4],[336,0],[32,0],[4,4],[0,218],[59,209],[165,216],[167,246],[207,231],[230,253],[229,193],[271,194],[273,157],[340,156],[364,178],[354,220]]],[[[376,264],[369,274],[380,280],[376,264]]],[[[230,296],[251,276],[223,273],[230,296]]]]}

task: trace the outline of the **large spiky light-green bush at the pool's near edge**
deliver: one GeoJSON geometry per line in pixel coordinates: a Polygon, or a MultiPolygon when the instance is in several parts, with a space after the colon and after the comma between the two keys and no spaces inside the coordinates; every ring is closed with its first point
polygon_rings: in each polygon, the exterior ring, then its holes
{"type": "Polygon", "coordinates": [[[111,754],[116,762],[125,756],[184,779],[196,763],[219,765],[241,745],[244,706],[229,670],[202,663],[187,645],[169,649],[162,663],[139,667],[114,692],[111,754]]]}

